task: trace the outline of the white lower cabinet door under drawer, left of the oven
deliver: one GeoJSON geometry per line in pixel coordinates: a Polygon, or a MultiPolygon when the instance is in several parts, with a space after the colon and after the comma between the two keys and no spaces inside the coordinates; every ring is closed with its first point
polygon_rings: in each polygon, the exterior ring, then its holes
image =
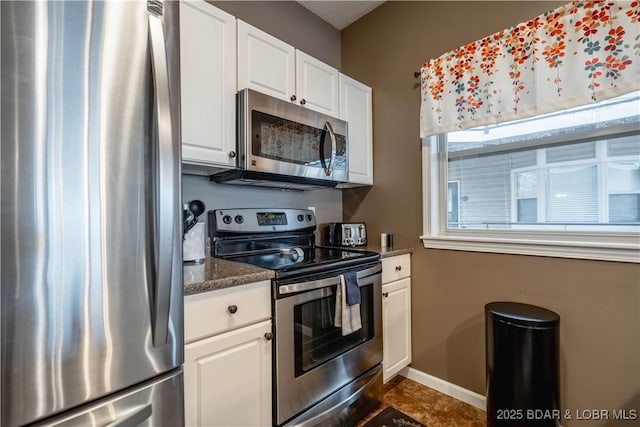
{"type": "Polygon", "coordinates": [[[185,346],[187,426],[271,425],[271,321],[185,346]]]}

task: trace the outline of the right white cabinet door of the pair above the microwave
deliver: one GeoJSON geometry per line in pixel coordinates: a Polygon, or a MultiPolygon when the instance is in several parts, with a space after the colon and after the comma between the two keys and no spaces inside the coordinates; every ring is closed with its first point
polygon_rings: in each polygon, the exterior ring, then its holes
{"type": "Polygon", "coordinates": [[[300,105],[340,117],[338,70],[306,53],[296,51],[296,96],[300,105]]]}

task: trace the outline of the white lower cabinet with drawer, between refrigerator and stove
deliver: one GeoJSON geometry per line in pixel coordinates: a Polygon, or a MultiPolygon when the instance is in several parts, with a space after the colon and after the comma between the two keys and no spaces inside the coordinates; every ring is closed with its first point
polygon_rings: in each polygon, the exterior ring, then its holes
{"type": "Polygon", "coordinates": [[[187,426],[271,425],[273,335],[269,283],[185,297],[187,426]],[[239,317],[247,313],[253,318],[239,317]],[[236,315],[245,326],[220,331],[220,325],[233,323],[231,319],[236,315]],[[212,325],[213,335],[201,338],[203,324],[212,325]],[[198,339],[189,342],[196,336],[198,339]]]}

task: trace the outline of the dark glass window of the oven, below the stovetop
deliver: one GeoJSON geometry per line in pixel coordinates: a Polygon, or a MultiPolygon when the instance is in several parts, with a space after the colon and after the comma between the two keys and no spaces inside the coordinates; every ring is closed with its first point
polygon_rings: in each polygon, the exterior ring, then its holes
{"type": "Polygon", "coordinates": [[[336,287],[332,295],[294,307],[296,377],[373,338],[373,285],[360,288],[362,328],[342,336],[335,326],[336,287]]]}

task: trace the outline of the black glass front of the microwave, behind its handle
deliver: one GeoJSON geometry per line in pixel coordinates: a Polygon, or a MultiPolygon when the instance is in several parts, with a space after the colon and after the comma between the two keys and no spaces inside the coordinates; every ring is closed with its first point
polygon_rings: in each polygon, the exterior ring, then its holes
{"type": "MultiPolygon", "coordinates": [[[[331,159],[331,138],[323,129],[292,122],[259,111],[252,111],[251,151],[254,156],[287,163],[321,168],[320,149],[325,162],[331,159]]],[[[346,141],[336,135],[336,161],[334,169],[344,169],[346,163],[346,141]]]]}

